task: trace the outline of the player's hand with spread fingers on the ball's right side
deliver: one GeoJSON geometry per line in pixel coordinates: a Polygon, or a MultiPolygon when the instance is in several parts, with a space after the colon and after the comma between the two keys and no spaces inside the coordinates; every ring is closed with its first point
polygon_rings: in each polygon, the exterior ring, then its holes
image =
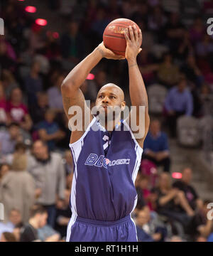
{"type": "Polygon", "coordinates": [[[126,60],[136,60],[138,53],[141,52],[142,32],[137,31],[136,26],[129,26],[129,35],[124,31],[126,38],[126,60]]]}

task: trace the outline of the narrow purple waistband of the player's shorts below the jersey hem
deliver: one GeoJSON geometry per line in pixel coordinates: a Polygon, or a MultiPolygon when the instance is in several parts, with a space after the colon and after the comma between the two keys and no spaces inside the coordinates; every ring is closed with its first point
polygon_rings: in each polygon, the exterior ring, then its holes
{"type": "Polygon", "coordinates": [[[121,223],[125,223],[126,221],[131,220],[130,215],[127,215],[124,218],[121,218],[120,220],[112,220],[112,221],[104,221],[104,220],[92,220],[87,218],[81,218],[77,216],[76,221],[80,223],[87,223],[90,225],[102,225],[102,226],[114,226],[121,223]]]}

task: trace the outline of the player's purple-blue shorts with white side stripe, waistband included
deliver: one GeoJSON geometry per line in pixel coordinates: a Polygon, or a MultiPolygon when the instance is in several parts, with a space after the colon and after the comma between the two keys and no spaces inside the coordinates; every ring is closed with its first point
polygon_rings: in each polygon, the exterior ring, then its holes
{"type": "Polygon", "coordinates": [[[137,242],[130,215],[116,221],[89,220],[77,216],[67,227],[67,242],[137,242]]]}

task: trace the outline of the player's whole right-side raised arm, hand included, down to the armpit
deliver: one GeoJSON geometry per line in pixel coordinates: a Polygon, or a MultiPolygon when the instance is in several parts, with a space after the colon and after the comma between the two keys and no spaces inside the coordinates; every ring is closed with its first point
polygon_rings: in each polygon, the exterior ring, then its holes
{"type": "MultiPolygon", "coordinates": [[[[139,114],[139,107],[145,107],[145,129],[138,131],[136,140],[138,144],[143,147],[143,141],[146,138],[146,134],[148,132],[149,127],[149,115],[148,115],[148,97],[146,93],[146,87],[143,82],[143,78],[141,76],[141,72],[138,69],[138,64],[136,61],[138,53],[141,52],[141,43],[142,43],[142,33],[141,30],[137,31],[136,26],[129,26],[129,35],[124,31],[124,36],[126,38],[126,60],[128,61],[129,66],[129,93],[131,98],[131,105],[136,106],[135,115],[131,111],[130,114],[130,123],[131,123],[131,116],[136,116],[136,125],[144,125],[141,124],[141,120],[139,114]]],[[[132,120],[133,121],[133,120],[132,120]]],[[[134,131],[135,132],[135,131],[134,131]]],[[[137,133],[137,132],[136,132],[137,133]]]]}

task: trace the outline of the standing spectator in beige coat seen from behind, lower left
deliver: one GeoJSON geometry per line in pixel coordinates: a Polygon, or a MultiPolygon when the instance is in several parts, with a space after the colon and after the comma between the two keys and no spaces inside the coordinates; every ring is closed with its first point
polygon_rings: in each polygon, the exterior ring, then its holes
{"type": "Polygon", "coordinates": [[[6,217],[11,209],[21,211],[23,221],[28,221],[29,209],[33,205],[35,196],[35,183],[26,172],[26,153],[16,151],[13,156],[11,171],[2,178],[0,184],[0,201],[4,203],[6,217]]]}

